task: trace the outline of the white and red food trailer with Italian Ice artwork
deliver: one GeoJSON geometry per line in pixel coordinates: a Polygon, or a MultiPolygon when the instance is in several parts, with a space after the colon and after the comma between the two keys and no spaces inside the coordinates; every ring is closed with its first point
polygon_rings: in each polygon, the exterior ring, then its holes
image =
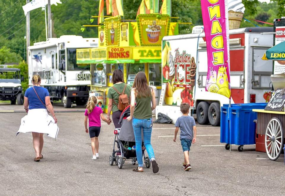
{"type": "MultiPolygon", "coordinates": [[[[263,32],[273,32],[273,28],[230,30],[231,103],[261,103],[270,97],[273,63],[264,61],[261,57],[273,46],[273,35],[262,34],[263,32]]],[[[219,125],[220,107],[228,104],[229,99],[205,91],[207,71],[204,33],[165,36],[162,41],[163,85],[156,115],[159,112],[167,114],[175,123],[181,115],[180,103],[188,102],[192,111],[196,112],[200,124],[210,122],[213,126],[219,125]]]]}

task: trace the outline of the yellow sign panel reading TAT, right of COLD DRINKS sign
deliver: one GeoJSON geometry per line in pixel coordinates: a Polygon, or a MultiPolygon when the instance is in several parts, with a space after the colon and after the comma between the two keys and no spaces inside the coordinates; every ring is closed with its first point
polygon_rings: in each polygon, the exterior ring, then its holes
{"type": "Polygon", "coordinates": [[[133,47],[133,59],[161,59],[161,47],[133,47]]]}

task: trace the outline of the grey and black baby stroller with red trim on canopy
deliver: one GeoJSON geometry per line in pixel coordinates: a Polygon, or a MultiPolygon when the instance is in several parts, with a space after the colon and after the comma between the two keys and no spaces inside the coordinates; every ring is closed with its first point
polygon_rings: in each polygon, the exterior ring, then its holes
{"type": "MultiPolygon", "coordinates": [[[[137,162],[137,154],[135,148],[135,138],[134,138],[134,130],[132,121],[128,121],[126,118],[130,115],[130,106],[126,107],[126,109],[122,112],[119,124],[121,124],[121,128],[117,128],[114,130],[115,138],[113,145],[113,153],[109,157],[110,165],[113,165],[114,162],[118,165],[119,169],[122,169],[123,164],[126,159],[132,159],[132,164],[135,165],[137,162]],[[115,144],[117,143],[118,150],[115,150],[115,144]]],[[[143,132],[142,132],[143,139],[143,132]]],[[[147,168],[151,167],[151,161],[149,157],[145,157],[145,146],[142,145],[143,157],[145,166],[147,168]]]]}

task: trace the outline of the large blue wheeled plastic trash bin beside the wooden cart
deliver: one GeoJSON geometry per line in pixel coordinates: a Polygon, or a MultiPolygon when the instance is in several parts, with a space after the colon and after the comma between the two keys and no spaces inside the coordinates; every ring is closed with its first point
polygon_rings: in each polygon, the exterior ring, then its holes
{"type": "MultiPolygon", "coordinates": [[[[220,142],[239,145],[255,144],[255,123],[257,113],[252,109],[264,109],[267,103],[224,104],[221,107],[220,142]]],[[[228,147],[229,148],[229,147],[228,147]]],[[[226,146],[226,149],[228,149],[226,146]]]]}

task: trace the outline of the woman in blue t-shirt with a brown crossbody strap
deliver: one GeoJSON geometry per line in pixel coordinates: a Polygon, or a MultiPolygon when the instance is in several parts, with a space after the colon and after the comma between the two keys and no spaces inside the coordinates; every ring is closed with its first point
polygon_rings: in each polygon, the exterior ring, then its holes
{"type": "Polygon", "coordinates": [[[33,136],[33,145],[36,152],[34,161],[40,161],[42,156],[42,147],[44,145],[43,134],[48,133],[48,125],[46,119],[48,117],[47,110],[52,115],[54,122],[57,122],[50,103],[50,95],[46,88],[41,87],[41,77],[34,75],[32,77],[33,87],[28,88],[25,92],[24,109],[28,113],[29,128],[33,136]]]}

